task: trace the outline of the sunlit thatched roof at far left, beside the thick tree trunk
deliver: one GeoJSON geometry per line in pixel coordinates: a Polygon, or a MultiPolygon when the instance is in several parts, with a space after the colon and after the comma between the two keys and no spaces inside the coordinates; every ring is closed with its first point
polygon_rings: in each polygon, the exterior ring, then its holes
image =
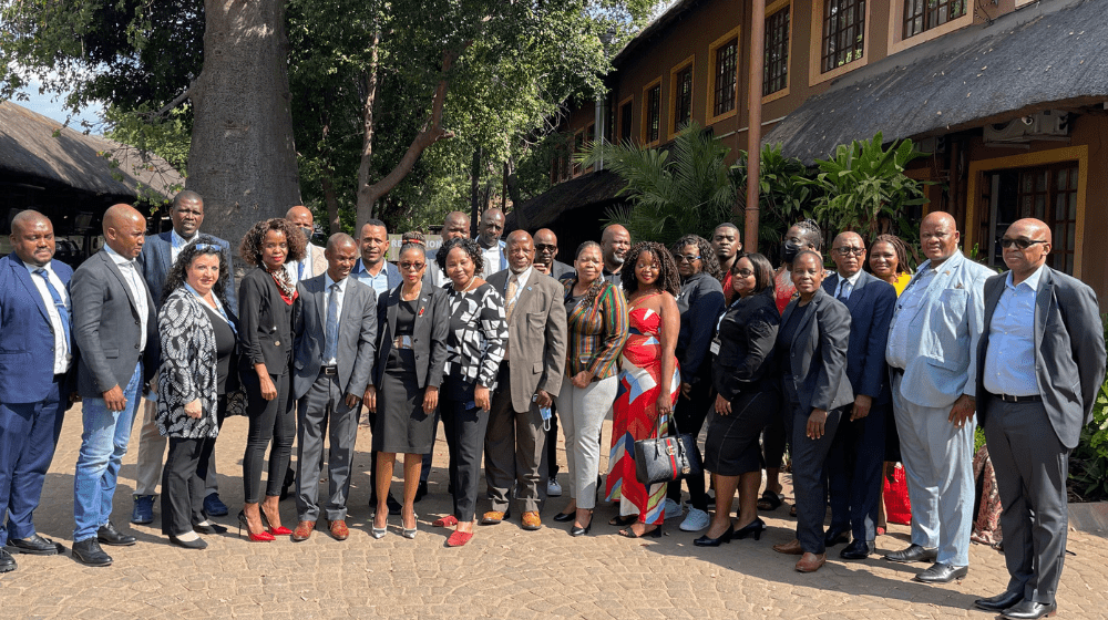
{"type": "Polygon", "coordinates": [[[132,146],[62,127],[10,101],[0,103],[0,172],[132,200],[141,186],[170,199],[185,183],[156,155],[143,156],[132,146]]]}

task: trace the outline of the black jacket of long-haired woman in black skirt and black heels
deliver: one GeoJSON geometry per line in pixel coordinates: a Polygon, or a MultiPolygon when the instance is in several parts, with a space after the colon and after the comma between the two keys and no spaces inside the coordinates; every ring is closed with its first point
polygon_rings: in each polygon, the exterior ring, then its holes
{"type": "Polygon", "coordinates": [[[750,390],[774,389],[776,379],[766,378],[774,368],[773,347],[781,316],[773,289],[736,299],[719,322],[719,353],[711,364],[716,391],[728,401],[750,390]]]}

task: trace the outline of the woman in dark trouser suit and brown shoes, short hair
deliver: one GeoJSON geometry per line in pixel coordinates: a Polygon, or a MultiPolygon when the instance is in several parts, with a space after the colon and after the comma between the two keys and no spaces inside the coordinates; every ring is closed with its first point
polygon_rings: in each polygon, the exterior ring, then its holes
{"type": "Polygon", "coordinates": [[[820,286],[823,259],[814,251],[802,251],[793,259],[792,283],[800,297],[790,301],[781,316],[776,353],[780,360],[786,428],[792,446],[797,538],[774,545],[773,550],[803,555],[797,570],[814,572],[827,561],[823,462],[843,409],[854,402],[847,380],[850,311],[820,286]]]}

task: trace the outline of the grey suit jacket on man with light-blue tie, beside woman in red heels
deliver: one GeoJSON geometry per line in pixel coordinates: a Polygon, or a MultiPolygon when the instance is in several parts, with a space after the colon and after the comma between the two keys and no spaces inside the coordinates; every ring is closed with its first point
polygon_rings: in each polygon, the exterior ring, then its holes
{"type": "MultiPolygon", "coordinates": [[[[293,396],[308,393],[319,376],[326,344],[327,311],[325,290],[327,276],[316,276],[296,285],[300,291],[300,312],[296,321],[296,349],[293,360],[293,396]]],[[[377,342],[377,292],[348,277],[339,317],[338,360],[339,386],[343,394],[359,399],[366,392],[373,370],[377,342]]]]}

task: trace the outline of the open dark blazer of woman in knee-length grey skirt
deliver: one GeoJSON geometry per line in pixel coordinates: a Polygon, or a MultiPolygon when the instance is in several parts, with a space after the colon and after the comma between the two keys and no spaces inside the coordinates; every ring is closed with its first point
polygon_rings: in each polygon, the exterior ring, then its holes
{"type": "MultiPolygon", "coordinates": [[[[384,366],[392,352],[392,334],[397,330],[397,310],[400,303],[399,285],[377,300],[377,360],[373,365],[373,385],[381,389],[384,366]]],[[[423,282],[416,309],[412,330],[412,350],[416,353],[416,379],[420,388],[442,383],[447,365],[447,334],[450,332],[450,306],[445,289],[429,287],[423,282]]]]}

